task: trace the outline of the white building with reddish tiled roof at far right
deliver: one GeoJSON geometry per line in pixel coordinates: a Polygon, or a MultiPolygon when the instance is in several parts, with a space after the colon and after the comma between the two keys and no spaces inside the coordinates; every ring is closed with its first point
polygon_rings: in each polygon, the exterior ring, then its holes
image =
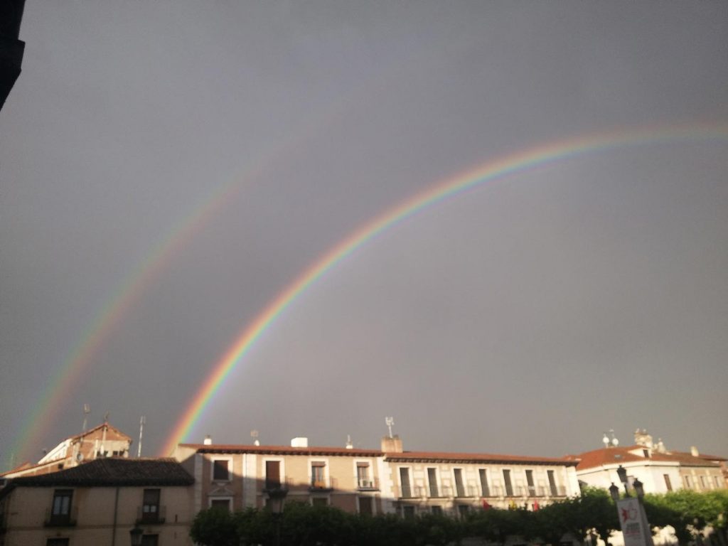
{"type": "Polygon", "coordinates": [[[609,446],[605,442],[604,448],[572,458],[578,461],[579,481],[590,486],[609,488],[612,483],[619,486],[617,468],[622,466],[627,470],[628,483],[638,478],[650,493],[667,493],[681,488],[710,491],[726,487],[721,469],[726,459],[701,456],[697,448],[691,448],[691,452],[670,451],[662,440],[654,444],[646,430],[635,432],[633,446],[609,446]]]}

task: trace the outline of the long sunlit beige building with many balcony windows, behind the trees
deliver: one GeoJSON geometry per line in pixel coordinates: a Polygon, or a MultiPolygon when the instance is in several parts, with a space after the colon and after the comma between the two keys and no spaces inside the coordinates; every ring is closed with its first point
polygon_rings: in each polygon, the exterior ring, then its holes
{"type": "Polygon", "coordinates": [[[579,494],[570,459],[404,451],[385,437],[379,450],[180,444],[175,459],[195,478],[193,509],[264,507],[273,491],[287,500],[350,513],[459,515],[483,507],[539,506],[579,494]]]}

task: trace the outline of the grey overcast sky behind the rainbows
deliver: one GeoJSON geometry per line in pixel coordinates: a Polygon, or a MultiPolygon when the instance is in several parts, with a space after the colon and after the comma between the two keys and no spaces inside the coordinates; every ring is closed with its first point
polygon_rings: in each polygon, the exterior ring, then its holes
{"type": "Polygon", "coordinates": [[[0,111],[3,468],[89,425],[189,442],[728,456],[728,4],[28,0],[0,111]],[[705,127],[722,127],[712,132],[705,127]],[[679,133],[679,131],[678,131],[679,133]],[[721,133],[721,134],[719,134],[721,133]],[[679,133],[682,134],[682,133],[679,133]],[[620,138],[617,136],[617,141],[620,138]]]}

